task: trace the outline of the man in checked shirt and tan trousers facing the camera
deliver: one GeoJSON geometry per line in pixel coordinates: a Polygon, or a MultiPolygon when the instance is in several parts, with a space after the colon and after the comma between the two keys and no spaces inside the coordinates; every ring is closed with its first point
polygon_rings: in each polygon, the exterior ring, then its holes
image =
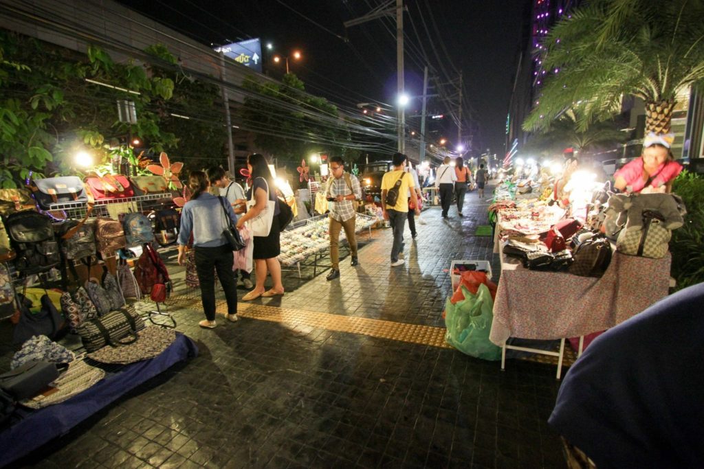
{"type": "Polygon", "coordinates": [[[325,197],[332,202],[330,204],[329,233],[330,233],[330,262],[332,269],[327,274],[327,280],[340,276],[340,253],[339,238],[340,229],[345,230],[347,243],[350,246],[352,255],[351,266],[357,266],[357,238],[355,236],[355,224],[357,214],[355,211],[355,201],[361,200],[362,188],[359,179],[353,174],[345,171],[345,163],[339,156],[330,158],[330,173],[332,177],[327,180],[325,197]]]}

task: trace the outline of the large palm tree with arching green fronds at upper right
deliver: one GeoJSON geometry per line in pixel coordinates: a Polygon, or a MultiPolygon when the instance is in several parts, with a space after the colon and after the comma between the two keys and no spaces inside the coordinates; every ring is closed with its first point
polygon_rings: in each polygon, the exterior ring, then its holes
{"type": "Polygon", "coordinates": [[[568,109],[578,129],[618,113],[622,99],[646,103],[646,131],[670,131],[678,91],[704,80],[704,0],[593,0],[543,42],[546,79],[523,123],[544,131],[568,109]]]}

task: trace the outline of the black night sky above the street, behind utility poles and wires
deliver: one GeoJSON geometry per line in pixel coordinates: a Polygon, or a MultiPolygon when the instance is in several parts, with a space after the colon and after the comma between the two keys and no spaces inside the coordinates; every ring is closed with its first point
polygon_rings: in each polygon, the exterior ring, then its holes
{"type": "MultiPolygon", "coordinates": [[[[391,105],[396,95],[396,22],[372,20],[346,30],[344,21],[359,18],[382,0],[123,0],[120,3],[172,27],[203,44],[217,45],[259,37],[287,55],[295,49],[303,60],[289,60],[306,89],[346,109],[356,103],[391,105]],[[303,18],[305,15],[308,19],[303,18]],[[317,23],[314,24],[314,23],[317,23]],[[325,29],[323,29],[325,28],[325,29]],[[348,42],[341,38],[346,37],[348,42]]],[[[527,0],[406,0],[406,91],[422,94],[422,66],[429,61],[439,82],[457,80],[463,71],[466,96],[463,136],[474,136],[473,154],[491,148],[503,154],[505,119],[522,45],[527,0]],[[420,38],[420,39],[419,39],[420,38]],[[425,60],[423,51],[428,60],[425,60]],[[469,115],[468,115],[469,114],[469,115]]],[[[269,75],[280,77],[283,65],[265,55],[269,75]]],[[[432,73],[432,72],[431,72],[432,73]]],[[[451,86],[446,86],[450,92],[451,86]]],[[[434,91],[429,90],[429,94],[434,91]]],[[[408,115],[420,111],[410,103],[408,115]]],[[[453,107],[456,108],[457,101],[453,107]]],[[[437,98],[429,113],[447,113],[437,98]]],[[[419,112],[420,113],[420,112],[419,112]]],[[[411,128],[420,120],[408,117],[411,128]]],[[[457,129],[448,122],[436,128],[455,143],[457,129]]]]}

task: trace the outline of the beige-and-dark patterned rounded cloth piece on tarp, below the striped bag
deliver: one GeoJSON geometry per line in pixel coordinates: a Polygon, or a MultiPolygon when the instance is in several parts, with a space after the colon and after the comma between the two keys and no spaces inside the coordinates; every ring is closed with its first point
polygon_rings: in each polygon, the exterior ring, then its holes
{"type": "Polygon", "coordinates": [[[175,330],[157,326],[147,326],[137,335],[137,342],[120,347],[108,345],[88,354],[88,358],[101,363],[127,365],[154,358],[176,340],[175,330]]]}

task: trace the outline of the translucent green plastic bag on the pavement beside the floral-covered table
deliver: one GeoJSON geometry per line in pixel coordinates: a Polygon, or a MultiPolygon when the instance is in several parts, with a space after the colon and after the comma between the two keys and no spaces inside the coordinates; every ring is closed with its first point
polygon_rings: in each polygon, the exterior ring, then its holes
{"type": "Polygon", "coordinates": [[[452,304],[445,302],[445,340],[464,354],[484,360],[500,360],[501,347],[489,340],[491,321],[494,321],[494,300],[489,288],[479,285],[477,295],[464,286],[465,299],[452,304]]]}

